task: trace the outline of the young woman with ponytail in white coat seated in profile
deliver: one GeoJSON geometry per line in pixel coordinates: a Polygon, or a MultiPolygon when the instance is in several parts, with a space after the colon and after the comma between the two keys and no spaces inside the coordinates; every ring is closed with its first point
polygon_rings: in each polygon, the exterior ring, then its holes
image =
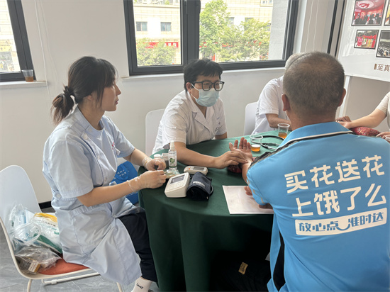
{"type": "Polygon", "coordinates": [[[145,211],[126,195],[162,186],[165,162],[135,149],[104,116],[116,111],[120,94],[108,61],[82,57],[71,65],[64,92],[52,101],[57,127],[45,143],[43,174],[52,189],[64,259],[125,285],[136,281],[135,290],[148,291],[157,276],[145,211]],[[111,185],[118,157],[148,172],[111,185]]]}

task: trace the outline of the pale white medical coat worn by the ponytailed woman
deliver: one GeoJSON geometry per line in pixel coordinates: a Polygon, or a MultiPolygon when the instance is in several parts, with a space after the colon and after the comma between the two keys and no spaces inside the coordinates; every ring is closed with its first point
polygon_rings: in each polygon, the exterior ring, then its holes
{"type": "Polygon", "coordinates": [[[110,118],[103,116],[100,125],[102,130],[93,128],[79,108],[62,120],[45,143],[43,174],[52,189],[65,261],[128,285],[141,275],[139,258],[118,217],[138,209],[125,197],[90,207],[77,199],[108,186],[117,157],[134,150],[110,118]]]}

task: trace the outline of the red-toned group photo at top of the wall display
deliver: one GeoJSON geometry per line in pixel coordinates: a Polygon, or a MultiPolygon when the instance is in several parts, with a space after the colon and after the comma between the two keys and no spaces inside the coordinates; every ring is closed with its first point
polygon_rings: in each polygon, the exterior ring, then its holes
{"type": "Polygon", "coordinates": [[[355,0],[352,26],[380,26],[385,0],[355,0]]]}

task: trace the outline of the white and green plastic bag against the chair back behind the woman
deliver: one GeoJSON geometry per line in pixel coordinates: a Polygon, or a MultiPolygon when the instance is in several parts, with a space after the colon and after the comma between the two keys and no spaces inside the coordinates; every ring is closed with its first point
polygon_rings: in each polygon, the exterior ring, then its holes
{"type": "Polygon", "coordinates": [[[34,214],[18,204],[11,210],[9,225],[14,252],[23,247],[35,246],[48,247],[54,252],[62,253],[60,230],[54,215],[34,214]]]}

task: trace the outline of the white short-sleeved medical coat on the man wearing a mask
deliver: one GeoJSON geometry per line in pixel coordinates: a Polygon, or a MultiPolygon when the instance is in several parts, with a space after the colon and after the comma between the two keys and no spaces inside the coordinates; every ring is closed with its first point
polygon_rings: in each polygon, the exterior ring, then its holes
{"type": "Polygon", "coordinates": [[[158,126],[153,153],[169,148],[169,142],[183,142],[192,145],[213,139],[227,132],[223,102],[209,106],[206,117],[191,99],[182,91],[168,103],[158,126]]]}

